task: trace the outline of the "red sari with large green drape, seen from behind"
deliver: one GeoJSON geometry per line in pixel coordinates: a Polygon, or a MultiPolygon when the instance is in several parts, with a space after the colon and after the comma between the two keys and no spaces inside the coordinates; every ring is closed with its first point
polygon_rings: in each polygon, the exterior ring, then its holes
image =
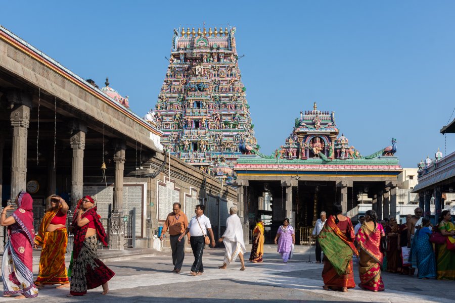
{"type": "Polygon", "coordinates": [[[322,277],[329,288],[354,288],[352,255],[358,255],[352,242],[354,228],[351,220],[335,223],[335,217],[329,216],[317,239],[324,251],[324,269],[322,277]]]}

